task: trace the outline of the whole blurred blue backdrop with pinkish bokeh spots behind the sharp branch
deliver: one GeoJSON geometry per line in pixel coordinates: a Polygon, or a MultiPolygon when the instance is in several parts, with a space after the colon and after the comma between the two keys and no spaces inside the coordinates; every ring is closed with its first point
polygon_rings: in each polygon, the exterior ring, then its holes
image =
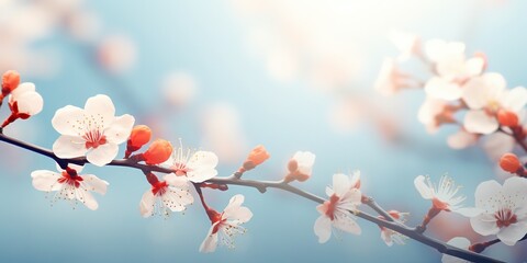
{"type": "MultiPolygon", "coordinates": [[[[279,180],[288,159],[309,150],[317,157],[302,188],[324,195],[335,172],[358,169],[363,192],[388,209],[410,211],[408,224],[416,225],[429,202],[415,191],[415,176],[448,173],[472,205],[476,185],[496,173],[481,147],[447,146],[455,128],[427,134],[416,118],[423,91],[390,98],[374,91],[383,57],[397,55],[389,33],[464,42],[468,53],[484,52],[489,71],[503,73],[509,87],[526,84],[526,8],[519,0],[0,0],[0,70],[19,70],[45,101],[41,114],[5,134],[51,148],[58,137],[51,125],[55,111],[104,93],[117,115],[133,114],[154,137],[215,151],[222,175],[258,144],[271,159],[245,175],[250,179],[279,180]]],[[[422,73],[423,67],[410,64],[406,71],[422,73]]],[[[244,194],[255,215],[248,232],[234,251],[200,254],[210,227],[200,205],[168,219],[142,218],[138,203],[148,184],[139,171],[89,165],[86,172],[110,182],[108,194],[96,196],[99,209],[51,207],[30,173],[55,164],[7,145],[0,151],[1,262],[440,261],[411,240],[386,247],[379,228],[362,220],[361,236],[318,244],[313,203],[236,186],[205,195],[223,209],[231,196],[244,194]]],[[[429,229],[445,241],[489,240],[452,214],[429,229]]],[[[525,251],[525,243],[496,244],[485,253],[524,262],[525,251]]]]}

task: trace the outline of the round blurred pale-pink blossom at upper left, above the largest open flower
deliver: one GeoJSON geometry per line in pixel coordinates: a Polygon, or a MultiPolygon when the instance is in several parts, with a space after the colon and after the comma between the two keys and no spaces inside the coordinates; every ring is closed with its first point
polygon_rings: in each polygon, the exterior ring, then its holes
{"type": "Polygon", "coordinates": [[[97,50],[99,62],[112,73],[122,73],[136,60],[135,44],[126,36],[113,35],[104,38],[97,50]]]}

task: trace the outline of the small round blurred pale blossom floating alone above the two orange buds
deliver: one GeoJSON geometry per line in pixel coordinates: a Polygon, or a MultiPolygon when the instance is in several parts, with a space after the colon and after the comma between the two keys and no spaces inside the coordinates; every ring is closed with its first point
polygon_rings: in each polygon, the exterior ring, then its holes
{"type": "Polygon", "coordinates": [[[170,105],[184,107],[194,99],[198,84],[191,75],[175,72],[165,78],[161,90],[165,100],[170,105]]]}

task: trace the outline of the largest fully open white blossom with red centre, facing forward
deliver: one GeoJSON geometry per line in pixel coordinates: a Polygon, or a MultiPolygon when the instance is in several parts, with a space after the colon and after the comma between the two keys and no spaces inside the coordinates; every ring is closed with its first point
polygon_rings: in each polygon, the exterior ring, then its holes
{"type": "Polygon", "coordinates": [[[102,167],[110,163],[126,141],[134,125],[134,117],[115,116],[115,107],[106,95],[96,95],[86,102],[85,108],[65,106],[52,119],[53,127],[61,134],[53,145],[59,158],[86,158],[102,167]]]}

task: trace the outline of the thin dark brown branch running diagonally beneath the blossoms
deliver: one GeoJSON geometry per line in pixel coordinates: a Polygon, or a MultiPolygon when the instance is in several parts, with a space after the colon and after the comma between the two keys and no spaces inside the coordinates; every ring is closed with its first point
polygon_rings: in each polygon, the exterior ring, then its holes
{"type": "MultiPolygon", "coordinates": [[[[1,130],[0,130],[1,132],[1,130]]],[[[57,157],[52,150],[42,148],[40,146],[35,146],[32,144],[27,144],[14,138],[11,138],[2,133],[0,133],[0,141],[4,141],[7,144],[33,151],[35,153],[48,157],[56,161],[60,168],[66,169],[69,163],[71,164],[78,164],[78,165],[83,165],[86,163],[89,163],[86,158],[74,158],[74,159],[61,159],[57,157]]],[[[127,168],[133,168],[133,169],[138,169],[143,171],[145,174],[148,172],[160,172],[160,173],[171,173],[172,171],[170,169],[157,167],[157,165],[147,165],[147,164],[142,164],[142,163],[136,163],[130,159],[119,159],[119,160],[113,160],[110,162],[108,165],[112,167],[127,167],[127,168]]],[[[256,181],[256,180],[245,180],[245,179],[238,179],[235,175],[231,175],[228,178],[213,178],[211,180],[205,181],[206,183],[215,183],[215,184],[224,184],[224,185],[240,185],[240,186],[247,186],[247,187],[254,187],[258,190],[260,193],[265,193],[268,188],[278,188],[282,190],[285,192],[290,192],[294,195],[301,196],[303,198],[310,199],[312,202],[323,204],[326,199],[305,192],[303,190],[300,190],[298,187],[294,187],[290,185],[289,183],[285,183],[283,181],[256,181]]],[[[197,191],[201,192],[199,185],[194,184],[194,187],[197,187],[197,191]]],[[[200,196],[201,198],[201,196],[200,196]]],[[[388,220],[374,217],[372,215],[369,215],[365,211],[361,210],[350,210],[355,216],[360,217],[367,221],[373,222],[378,226],[385,227],[389,229],[392,229],[393,231],[400,232],[411,239],[414,239],[425,245],[428,245],[430,248],[436,249],[440,253],[444,254],[449,254],[452,256],[457,256],[463,260],[472,261],[472,262],[501,262],[498,260],[494,260],[492,258],[481,255],[468,250],[459,249],[452,245],[449,245],[440,240],[436,240],[429,237],[424,236],[417,229],[415,228],[410,228],[404,225],[400,225],[396,220],[393,220],[393,218],[390,219],[389,214],[382,209],[372,198],[370,198],[369,202],[367,202],[367,205],[372,207],[375,211],[388,218],[388,220]]]]}

